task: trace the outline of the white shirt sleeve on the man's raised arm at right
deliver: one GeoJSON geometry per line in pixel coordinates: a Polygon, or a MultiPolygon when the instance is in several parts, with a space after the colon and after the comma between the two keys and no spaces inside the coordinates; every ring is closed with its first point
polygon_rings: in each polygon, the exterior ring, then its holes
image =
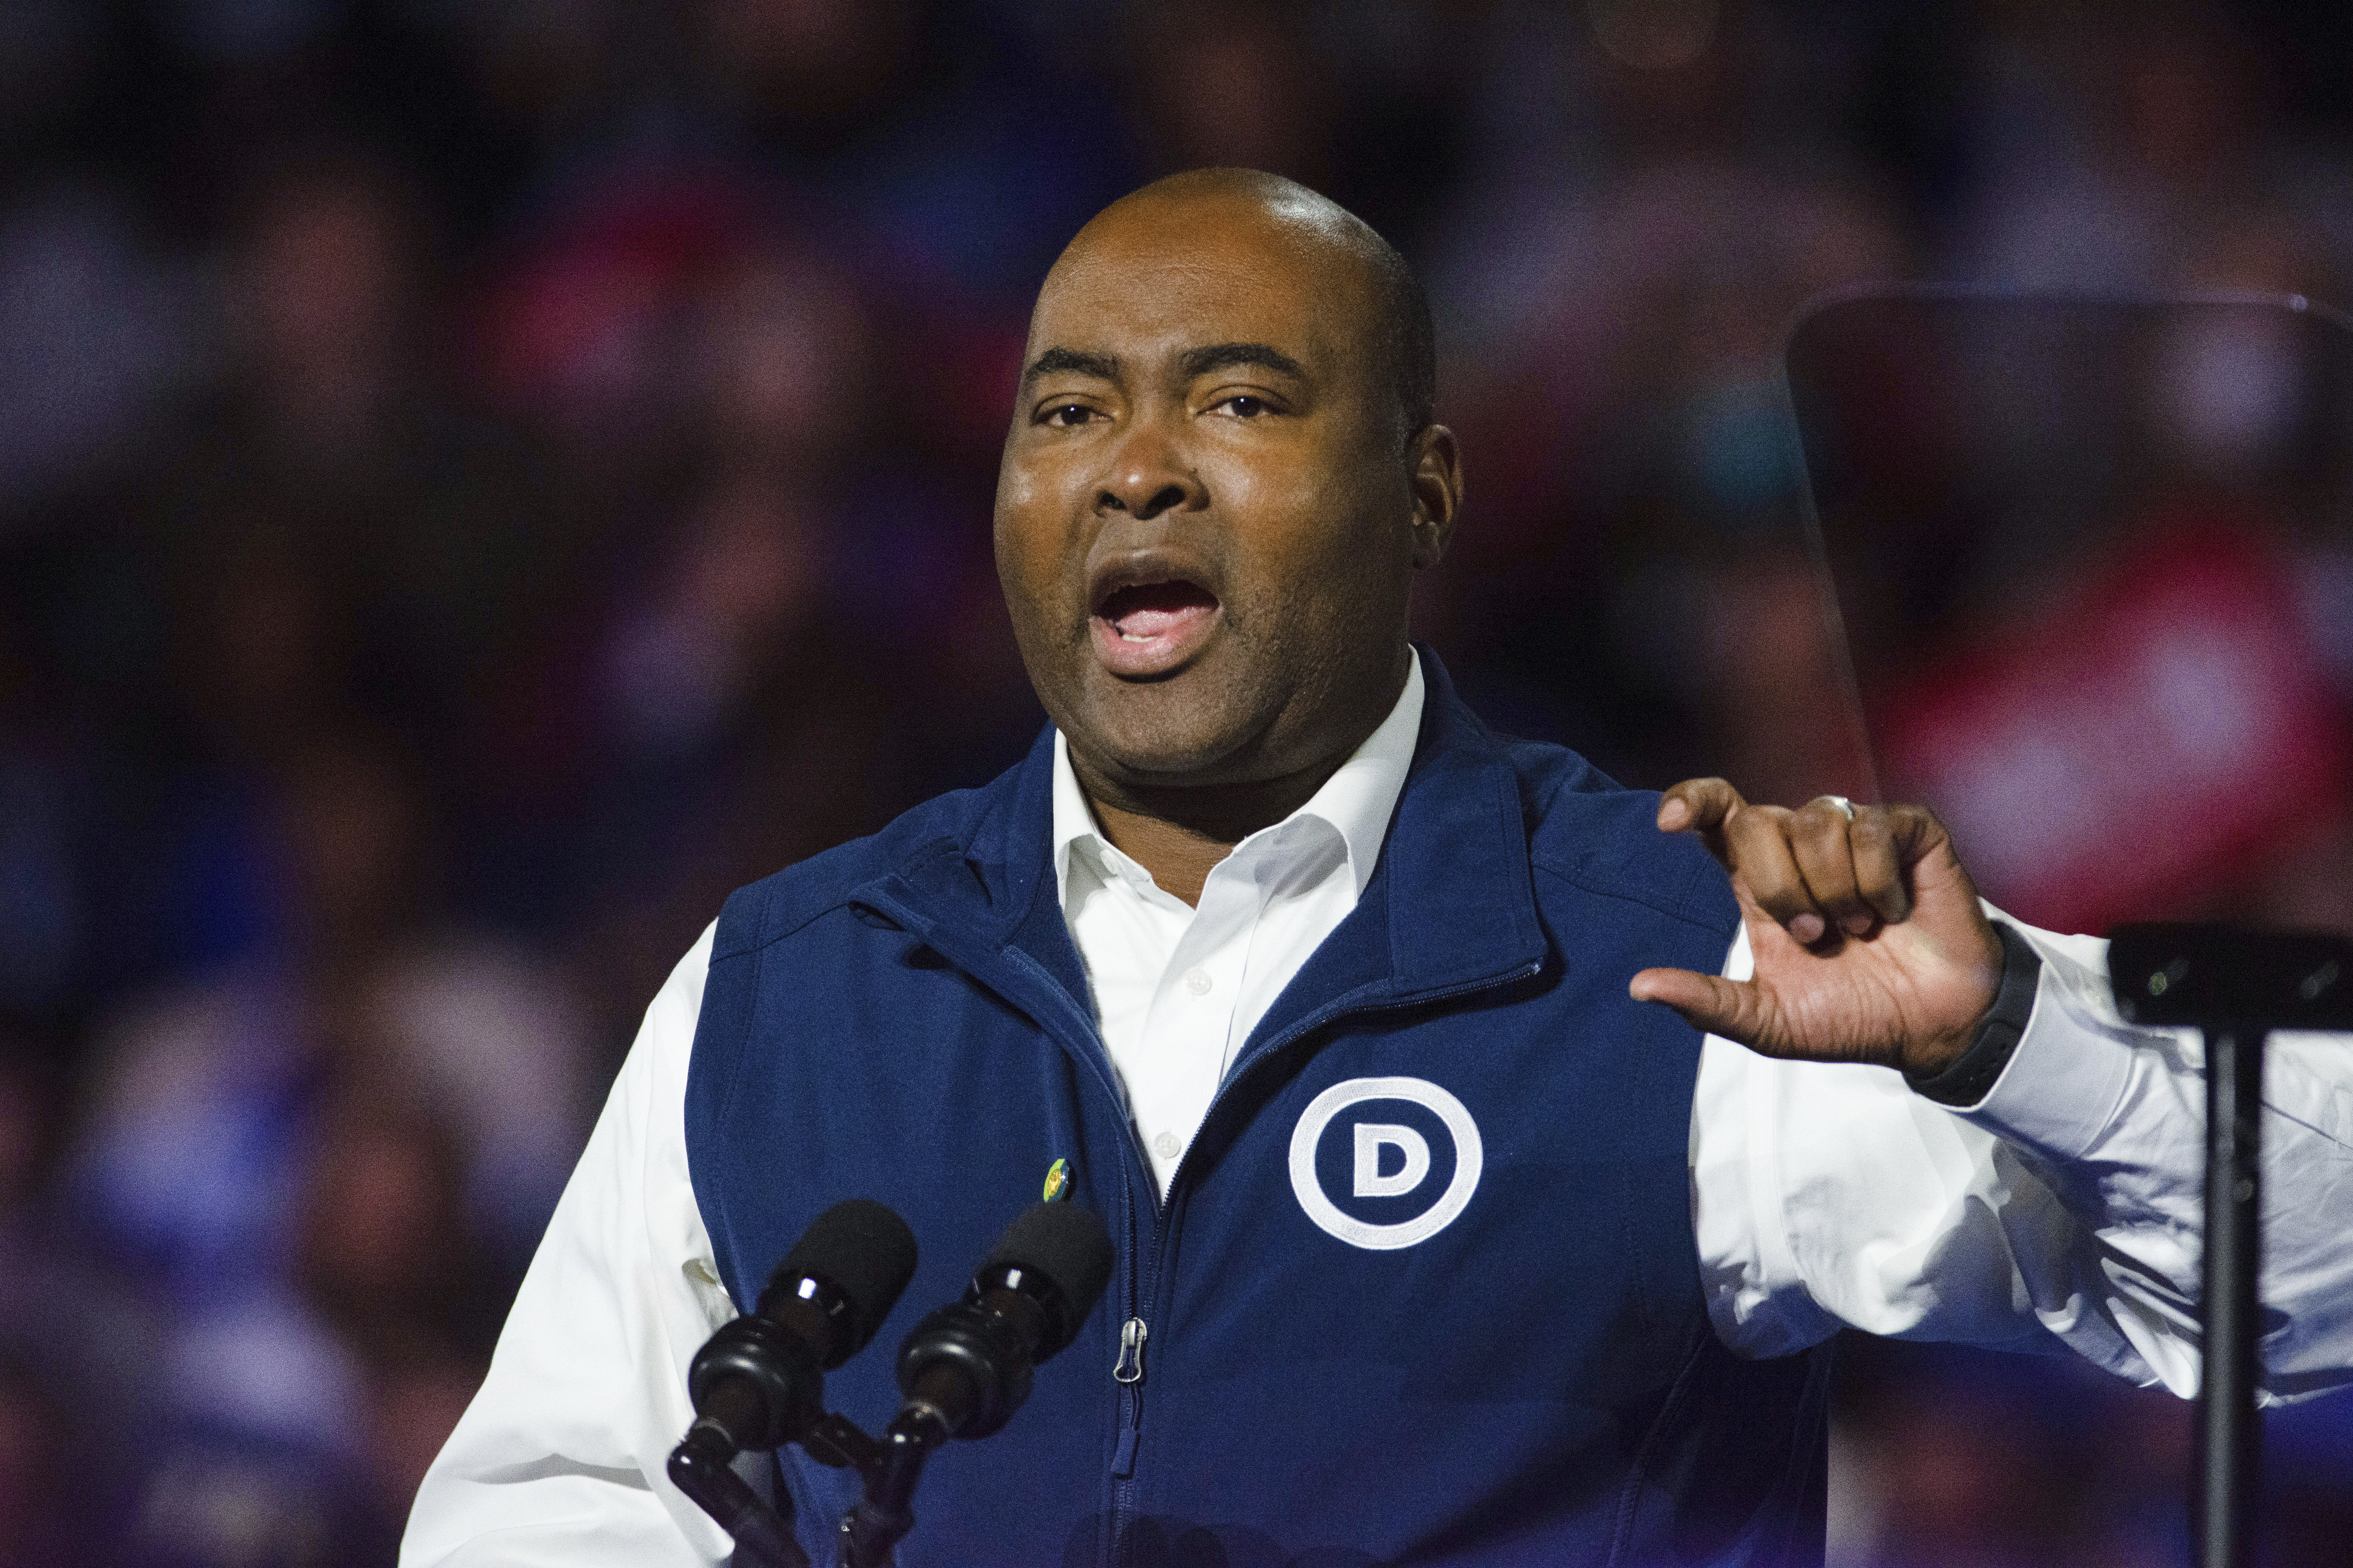
{"type": "MultiPolygon", "coordinates": [[[[2009,924],[2042,973],[2009,1065],[1972,1107],[1887,1067],[1701,1046],[1692,1215],[1732,1349],[1786,1354],[1854,1326],[2068,1349],[2198,1392],[2198,1034],[2127,1025],[2106,943],[2009,924]]],[[[1748,971],[1741,936],[1725,973],[1748,971]]],[[[2353,1378],[2353,1041],[2271,1037],[2261,1135],[2261,1354],[2278,1399],[2353,1378]]]]}

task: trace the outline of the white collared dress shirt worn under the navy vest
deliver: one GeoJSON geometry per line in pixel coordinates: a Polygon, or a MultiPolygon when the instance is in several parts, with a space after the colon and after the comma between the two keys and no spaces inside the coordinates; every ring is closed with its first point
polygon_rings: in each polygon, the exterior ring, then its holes
{"type": "MultiPolygon", "coordinates": [[[[1419,719],[1417,668],[1308,804],[1209,872],[1198,910],[1096,832],[1056,743],[1064,912],[1162,1190],[1240,1041],[1355,907],[1419,719]]],[[[2195,1392],[2198,1037],[2115,1016],[2106,943],[2019,929],[2042,957],[2033,1016],[1965,1112],[1887,1067],[1704,1041],[1692,1220],[1725,1345],[1772,1356],[1857,1326],[2066,1347],[2195,1392]]],[[[647,1011],[489,1378],[416,1495],[405,1568],[685,1566],[729,1552],[664,1474],[694,1418],[687,1361],[734,1316],[687,1178],[687,1056],[711,940],[647,1011]]],[[[1746,978],[1746,933],[1725,973],[1746,978]]],[[[2271,1389],[2299,1394],[2353,1366],[2353,1044],[2273,1034],[2264,1107],[2264,1302],[2282,1319],[2264,1366],[2271,1389]]]]}

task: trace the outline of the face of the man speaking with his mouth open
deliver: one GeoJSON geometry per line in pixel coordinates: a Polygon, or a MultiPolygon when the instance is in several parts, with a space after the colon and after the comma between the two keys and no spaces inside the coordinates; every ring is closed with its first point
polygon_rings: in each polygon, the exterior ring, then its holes
{"type": "Polygon", "coordinates": [[[1417,487],[1367,268],[1235,195],[1129,200],[1038,296],[998,576],[1085,776],[1285,778],[1405,672],[1417,487]]]}

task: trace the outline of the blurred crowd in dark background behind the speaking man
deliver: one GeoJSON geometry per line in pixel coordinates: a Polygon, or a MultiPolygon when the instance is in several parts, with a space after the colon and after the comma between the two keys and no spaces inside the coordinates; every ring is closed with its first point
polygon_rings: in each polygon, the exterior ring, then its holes
{"type": "MultiPolygon", "coordinates": [[[[995,451],[1104,202],[1278,169],[1421,268],[1492,722],[1866,795],[1800,303],[2353,303],[2346,82],[2285,2],[7,0],[0,1568],[391,1561],[725,893],[1035,733],[995,451]]],[[[2184,1406],[1849,1352],[1833,1561],[2186,1561],[2184,1406]]]]}

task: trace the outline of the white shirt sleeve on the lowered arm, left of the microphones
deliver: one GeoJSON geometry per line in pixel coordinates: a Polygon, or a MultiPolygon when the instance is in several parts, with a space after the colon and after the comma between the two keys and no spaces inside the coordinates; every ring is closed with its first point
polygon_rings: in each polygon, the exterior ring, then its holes
{"type": "Polygon", "coordinates": [[[687,1178],[711,940],[645,1013],[489,1375],[416,1493],[400,1568],[687,1568],[732,1549],[664,1474],[694,1420],[687,1361],[734,1316],[687,1178]]]}

